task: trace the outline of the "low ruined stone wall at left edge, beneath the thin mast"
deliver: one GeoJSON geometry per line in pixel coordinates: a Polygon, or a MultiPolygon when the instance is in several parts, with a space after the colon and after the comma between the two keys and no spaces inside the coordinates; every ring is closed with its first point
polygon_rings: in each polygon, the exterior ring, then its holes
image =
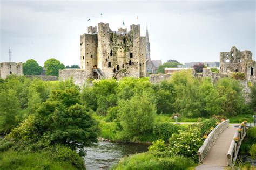
{"type": "Polygon", "coordinates": [[[10,74],[23,75],[22,69],[22,62],[1,62],[0,77],[5,79],[10,74]]]}

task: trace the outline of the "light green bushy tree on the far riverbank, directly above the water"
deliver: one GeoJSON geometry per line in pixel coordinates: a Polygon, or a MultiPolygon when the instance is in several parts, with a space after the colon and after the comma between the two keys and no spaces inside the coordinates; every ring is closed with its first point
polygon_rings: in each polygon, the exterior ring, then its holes
{"type": "Polygon", "coordinates": [[[118,107],[121,124],[127,138],[134,139],[140,135],[152,133],[156,107],[149,94],[144,92],[142,95],[135,95],[130,100],[122,100],[118,103],[118,107]]]}

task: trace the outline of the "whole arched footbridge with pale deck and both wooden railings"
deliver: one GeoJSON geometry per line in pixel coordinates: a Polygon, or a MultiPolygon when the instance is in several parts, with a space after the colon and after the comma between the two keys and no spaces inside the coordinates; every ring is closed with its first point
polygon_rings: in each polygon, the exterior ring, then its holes
{"type": "Polygon", "coordinates": [[[205,139],[198,150],[200,165],[196,169],[224,169],[234,164],[246,135],[246,123],[230,126],[229,122],[219,123],[205,139]]]}

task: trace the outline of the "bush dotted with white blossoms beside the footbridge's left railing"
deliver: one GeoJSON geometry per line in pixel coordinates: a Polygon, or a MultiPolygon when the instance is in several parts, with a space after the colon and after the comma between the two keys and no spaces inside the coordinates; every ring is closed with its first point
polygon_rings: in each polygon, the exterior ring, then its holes
{"type": "Polygon", "coordinates": [[[173,134],[169,139],[169,150],[174,155],[184,155],[194,161],[198,160],[197,151],[203,144],[199,131],[192,130],[173,134]]]}

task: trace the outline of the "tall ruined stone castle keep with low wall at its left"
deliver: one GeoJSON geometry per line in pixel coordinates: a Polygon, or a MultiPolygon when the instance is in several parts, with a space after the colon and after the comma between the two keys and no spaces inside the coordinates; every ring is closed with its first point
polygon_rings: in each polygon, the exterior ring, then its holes
{"type": "Polygon", "coordinates": [[[98,30],[89,26],[88,33],[80,36],[81,69],[59,70],[59,77],[65,80],[72,76],[80,85],[90,78],[146,77],[146,63],[152,67],[150,61],[147,30],[143,37],[140,25],[131,25],[130,31],[112,31],[108,23],[98,23],[98,30]]]}

